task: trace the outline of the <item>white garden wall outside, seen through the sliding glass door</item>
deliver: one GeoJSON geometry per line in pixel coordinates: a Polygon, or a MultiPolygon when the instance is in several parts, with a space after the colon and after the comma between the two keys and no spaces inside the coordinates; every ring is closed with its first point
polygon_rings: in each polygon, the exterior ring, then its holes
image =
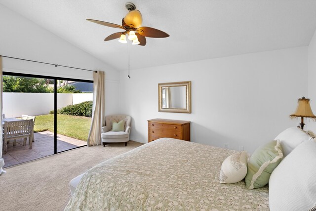
{"type": "MultiPolygon", "coordinates": [[[[92,93],[57,93],[57,108],[93,100],[92,93]]],[[[36,116],[54,110],[53,93],[12,93],[3,92],[5,118],[21,117],[22,114],[36,116]]]]}

